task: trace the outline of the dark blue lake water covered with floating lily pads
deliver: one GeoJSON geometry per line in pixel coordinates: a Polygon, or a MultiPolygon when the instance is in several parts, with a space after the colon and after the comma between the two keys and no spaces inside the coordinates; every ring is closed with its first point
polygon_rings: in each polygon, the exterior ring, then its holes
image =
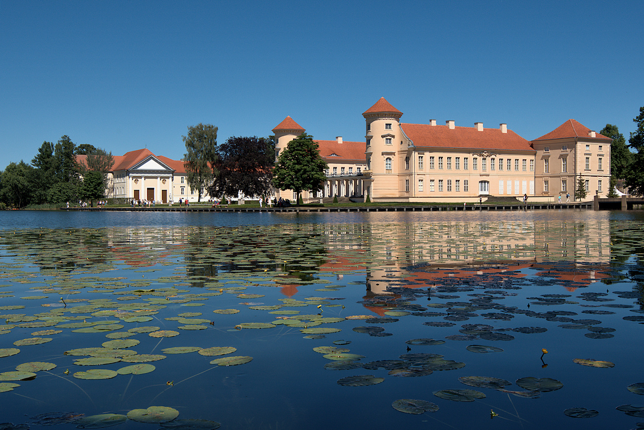
{"type": "Polygon", "coordinates": [[[0,211],[0,225],[0,422],[129,413],[117,428],[156,430],[132,412],[151,406],[178,411],[161,428],[200,430],[644,422],[642,212],[0,211]],[[392,406],[420,400],[438,409],[392,406]]]}

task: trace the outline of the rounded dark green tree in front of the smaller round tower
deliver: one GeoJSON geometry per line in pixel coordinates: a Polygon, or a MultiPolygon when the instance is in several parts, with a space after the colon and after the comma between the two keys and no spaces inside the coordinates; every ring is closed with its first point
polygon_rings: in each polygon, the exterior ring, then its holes
{"type": "Polygon", "coordinates": [[[327,162],[322,159],[313,136],[302,133],[279,154],[273,170],[273,183],[281,190],[291,189],[299,198],[303,190],[319,191],[327,179],[327,162]]]}

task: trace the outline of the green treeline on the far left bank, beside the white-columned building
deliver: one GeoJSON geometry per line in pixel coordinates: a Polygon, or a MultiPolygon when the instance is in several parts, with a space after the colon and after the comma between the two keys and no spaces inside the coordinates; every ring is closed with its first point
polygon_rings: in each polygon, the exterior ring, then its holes
{"type": "Polygon", "coordinates": [[[105,197],[113,164],[111,153],[89,144],[75,145],[69,136],[56,144],[43,142],[31,164],[11,162],[0,172],[0,209],[79,200],[93,205],[105,197]]]}

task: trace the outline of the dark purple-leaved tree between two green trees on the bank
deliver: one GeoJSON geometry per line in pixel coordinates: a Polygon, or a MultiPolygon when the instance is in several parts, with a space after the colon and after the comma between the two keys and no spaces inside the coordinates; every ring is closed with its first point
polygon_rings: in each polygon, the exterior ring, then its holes
{"type": "Polygon", "coordinates": [[[265,196],[275,160],[273,141],[257,136],[231,137],[218,147],[211,196],[265,196]]]}

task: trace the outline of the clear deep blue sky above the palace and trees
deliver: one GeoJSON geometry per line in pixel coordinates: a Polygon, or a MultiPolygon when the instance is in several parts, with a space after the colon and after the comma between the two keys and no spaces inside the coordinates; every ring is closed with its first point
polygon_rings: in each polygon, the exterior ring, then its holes
{"type": "Polygon", "coordinates": [[[644,2],[0,0],[0,169],[70,136],[179,160],[199,123],[365,141],[401,121],[533,140],[574,118],[628,140],[644,106],[644,2]]]}

